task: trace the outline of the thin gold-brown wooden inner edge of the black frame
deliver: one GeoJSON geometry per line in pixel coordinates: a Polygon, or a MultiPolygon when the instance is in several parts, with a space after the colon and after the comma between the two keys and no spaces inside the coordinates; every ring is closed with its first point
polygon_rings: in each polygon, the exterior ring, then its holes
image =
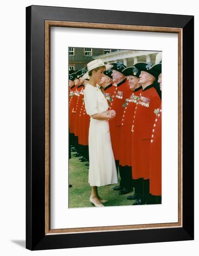
{"type": "Polygon", "coordinates": [[[45,20],[45,234],[66,234],[66,233],[85,233],[85,232],[103,232],[118,230],[135,230],[135,229],[157,229],[157,228],[176,228],[182,227],[182,28],[170,27],[148,27],[133,26],[119,24],[103,24],[103,23],[86,23],[86,22],[68,22],[45,20]],[[140,225],[122,225],[110,227],[89,227],[89,228],[73,228],[73,229],[50,229],[50,27],[76,27],[76,28],[96,28],[96,29],[112,29],[112,30],[131,30],[140,32],[162,32],[178,34],[178,59],[179,59],[179,204],[178,218],[175,223],[159,223],[159,224],[140,224],[140,225]]]}

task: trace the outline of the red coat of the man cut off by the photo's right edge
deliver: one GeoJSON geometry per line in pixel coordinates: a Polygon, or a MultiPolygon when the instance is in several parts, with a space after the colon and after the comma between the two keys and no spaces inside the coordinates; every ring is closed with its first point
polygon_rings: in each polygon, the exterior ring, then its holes
{"type": "Polygon", "coordinates": [[[150,193],[162,194],[162,109],[154,109],[156,125],[152,130],[150,147],[150,193]]]}

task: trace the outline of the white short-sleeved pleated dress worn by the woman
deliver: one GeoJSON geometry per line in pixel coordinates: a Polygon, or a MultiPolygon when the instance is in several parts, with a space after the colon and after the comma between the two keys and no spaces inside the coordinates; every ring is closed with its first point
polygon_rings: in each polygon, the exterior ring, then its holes
{"type": "Polygon", "coordinates": [[[107,120],[96,120],[92,115],[106,114],[108,103],[99,86],[86,85],[84,91],[86,113],[91,116],[88,147],[90,186],[105,186],[118,183],[115,160],[111,146],[109,123],[107,120]]]}

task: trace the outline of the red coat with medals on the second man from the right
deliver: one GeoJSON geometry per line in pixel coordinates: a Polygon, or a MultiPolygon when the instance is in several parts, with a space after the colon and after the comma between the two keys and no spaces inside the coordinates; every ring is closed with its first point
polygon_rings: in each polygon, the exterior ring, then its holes
{"type": "Polygon", "coordinates": [[[159,108],[161,100],[153,85],[147,86],[139,96],[132,125],[132,175],[133,179],[149,179],[153,111],[159,108]]]}

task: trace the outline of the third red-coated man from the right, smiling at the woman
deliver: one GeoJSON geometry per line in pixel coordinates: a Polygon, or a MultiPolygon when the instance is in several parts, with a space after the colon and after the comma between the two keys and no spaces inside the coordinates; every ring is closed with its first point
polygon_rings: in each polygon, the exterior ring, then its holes
{"type": "Polygon", "coordinates": [[[120,132],[119,173],[124,188],[119,191],[119,195],[128,194],[134,187],[131,168],[132,113],[134,113],[135,107],[137,106],[136,102],[139,100],[139,92],[142,89],[139,84],[140,71],[137,67],[126,67],[123,73],[127,76],[132,94],[122,105],[123,114],[120,132]]]}

